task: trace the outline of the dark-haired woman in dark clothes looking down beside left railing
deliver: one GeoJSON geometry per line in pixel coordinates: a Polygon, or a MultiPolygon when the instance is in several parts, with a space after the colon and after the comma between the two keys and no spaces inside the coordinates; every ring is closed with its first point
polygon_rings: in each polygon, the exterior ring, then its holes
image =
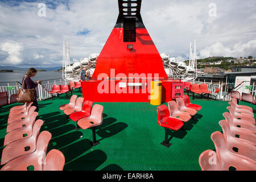
{"type": "MultiPolygon", "coordinates": [[[[36,76],[36,73],[37,73],[38,71],[36,71],[36,69],[35,68],[30,68],[30,69],[28,69],[28,71],[27,71],[27,74],[26,75],[24,75],[24,77],[23,77],[23,79],[22,79],[22,83],[23,83],[23,81],[24,81],[24,89],[35,89],[36,88],[36,86],[38,86],[38,84],[40,84],[42,81],[36,81],[36,83],[33,81],[33,80],[31,80],[31,77],[34,77],[34,76],[36,76]]],[[[35,101],[33,102],[33,104],[32,104],[32,106],[36,106],[36,112],[38,112],[39,111],[39,106],[38,106],[38,101],[37,101],[37,94],[36,94],[36,91],[35,91],[35,101]]]]}

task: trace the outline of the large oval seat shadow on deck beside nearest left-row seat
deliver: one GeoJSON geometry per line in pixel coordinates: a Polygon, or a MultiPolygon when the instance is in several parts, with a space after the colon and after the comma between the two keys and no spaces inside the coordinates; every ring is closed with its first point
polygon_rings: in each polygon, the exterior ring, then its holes
{"type": "Polygon", "coordinates": [[[95,171],[107,159],[107,156],[102,150],[94,150],[81,156],[72,162],[65,164],[64,170],[72,171],[95,171]]]}

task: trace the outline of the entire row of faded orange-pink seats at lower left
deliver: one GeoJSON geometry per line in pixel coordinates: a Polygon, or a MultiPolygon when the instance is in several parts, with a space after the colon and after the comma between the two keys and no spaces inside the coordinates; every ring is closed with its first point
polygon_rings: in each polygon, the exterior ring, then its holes
{"type": "Polygon", "coordinates": [[[65,157],[59,150],[47,154],[51,133],[42,131],[44,121],[37,119],[38,113],[32,102],[12,107],[8,125],[1,165],[1,171],[61,171],[65,157]],[[47,155],[46,155],[47,154],[47,155]]]}

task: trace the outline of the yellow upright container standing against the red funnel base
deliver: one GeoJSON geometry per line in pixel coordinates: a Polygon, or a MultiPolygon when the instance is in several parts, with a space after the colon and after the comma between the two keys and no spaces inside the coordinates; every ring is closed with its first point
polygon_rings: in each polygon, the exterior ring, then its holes
{"type": "Polygon", "coordinates": [[[162,104],[162,81],[151,81],[150,104],[155,106],[162,104]]]}

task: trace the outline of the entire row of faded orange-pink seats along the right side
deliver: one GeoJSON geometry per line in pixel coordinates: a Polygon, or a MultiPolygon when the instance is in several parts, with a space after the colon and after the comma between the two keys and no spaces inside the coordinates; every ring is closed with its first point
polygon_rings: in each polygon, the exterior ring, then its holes
{"type": "Polygon", "coordinates": [[[222,133],[210,136],[216,152],[206,150],[199,156],[203,171],[255,171],[256,170],[256,126],[253,109],[238,105],[233,96],[219,122],[222,133]]]}

